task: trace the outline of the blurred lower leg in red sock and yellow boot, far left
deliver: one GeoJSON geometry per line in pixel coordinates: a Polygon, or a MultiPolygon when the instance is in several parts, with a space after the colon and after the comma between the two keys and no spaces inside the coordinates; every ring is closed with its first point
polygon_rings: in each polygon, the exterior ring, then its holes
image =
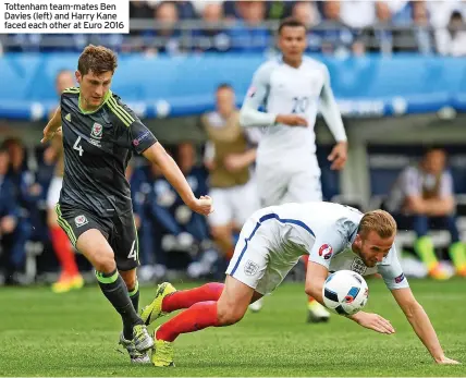
{"type": "Polygon", "coordinates": [[[66,233],[58,223],[58,216],[54,209],[48,209],[47,223],[50,230],[53,251],[62,269],[60,278],[52,285],[52,291],[56,293],[64,293],[72,289],[83,288],[84,280],[79,275],[72,245],[66,233]]]}

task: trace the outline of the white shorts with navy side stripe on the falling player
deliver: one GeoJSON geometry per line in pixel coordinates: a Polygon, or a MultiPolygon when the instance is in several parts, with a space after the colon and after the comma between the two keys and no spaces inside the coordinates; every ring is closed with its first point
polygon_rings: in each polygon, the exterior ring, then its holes
{"type": "Polygon", "coordinates": [[[263,210],[249,218],[226,269],[226,275],[262,295],[275,290],[301,257],[285,260],[277,255],[280,251],[273,245],[273,235],[279,232],[275,222],[272,215],[263,210]]]}

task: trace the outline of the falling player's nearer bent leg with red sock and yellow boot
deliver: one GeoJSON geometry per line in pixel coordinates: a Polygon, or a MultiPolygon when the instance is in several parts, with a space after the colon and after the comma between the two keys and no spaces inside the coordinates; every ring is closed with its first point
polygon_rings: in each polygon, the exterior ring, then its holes
{"type": "Polygon", "coordinates": [[[207,327],[234,325],[244,317],[249,304],[261,296],[243,282],[226,276],[224,288],[217,302],[195,303],[156,330],[152,364],[159,367],[174,366],[173,341],[181,333],[199,331],[207,327]]]}

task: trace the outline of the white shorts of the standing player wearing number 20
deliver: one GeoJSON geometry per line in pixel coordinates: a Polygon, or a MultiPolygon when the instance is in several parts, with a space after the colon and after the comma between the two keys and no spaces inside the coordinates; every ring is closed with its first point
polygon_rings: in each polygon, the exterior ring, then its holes
{"type": "Polygon", "coordinates": [[[262,207],[322,200],[320,170],[289,171],[258,167],[257,188],[262,207]]]}

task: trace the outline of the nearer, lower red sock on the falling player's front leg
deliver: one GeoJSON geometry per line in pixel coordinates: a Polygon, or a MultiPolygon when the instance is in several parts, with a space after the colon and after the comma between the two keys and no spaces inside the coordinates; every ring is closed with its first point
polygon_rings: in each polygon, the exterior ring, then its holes
{"type": "Polygon", "coordinates": [[[174,341],[181,333],[217,327],[217,302],[200,302],[164,322],[156,332],[157,340],[174,341]]]}

